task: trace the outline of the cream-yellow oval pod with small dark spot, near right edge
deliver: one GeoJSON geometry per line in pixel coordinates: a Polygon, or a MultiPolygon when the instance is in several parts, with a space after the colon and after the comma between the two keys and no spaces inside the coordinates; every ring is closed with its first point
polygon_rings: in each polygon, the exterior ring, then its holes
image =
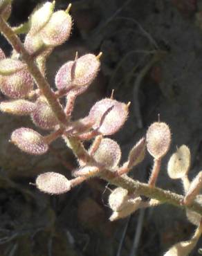
{"type": "Polygon", "coordinates": [[[190,169],[191,154],[186,145],[182,145],[169,158],[167,173],[171,179],[182,179],[190,169]]]}

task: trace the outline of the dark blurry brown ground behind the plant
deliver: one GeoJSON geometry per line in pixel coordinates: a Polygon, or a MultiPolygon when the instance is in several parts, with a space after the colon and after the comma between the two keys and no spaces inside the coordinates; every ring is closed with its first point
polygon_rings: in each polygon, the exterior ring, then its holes
{"type": "MultiPolygon", "coordinates": [[[[10,24],[26,21],[37,3],[42,1],[14,0],[10,24]]],[[[202,1],[72,3],[72,35],[48,58],[48,80],[54,88],[59,66],[72,60],[76,51],[79,55],[102,51],[100,74],[77,99],[73,118],[84,116],[112,89],[117,100],[131,101],[125,127],[113,136],[124,161],[160,113],[160,120],[172,130],[172,147],[163,159],[158,186],[182,194],[180,181],[169,179],[166,165],[176,146],[185,144],[192,152],[190,179],[202,166],[202,1]]],[[[67,5],[56,1],[56,9],[67,5]]],[[[1,47],[9,56],[10,46],[3,38],[1,47]]],[[[62,140],[44,156],[21,153],[8,140],[22,126],[33,127],[29,118],[1,114],[0,256],[158,256],[194,232],[185,212],[170,205],[137,211],[111,223],[107,183],[98,179],[61,196],[42,194],[28,183],[47,171],[70,177],[68,169],[75,166],[75,158],[62,140]]],[[[151,167],[152,157],[147,154],[130,175],[146,182],[151,167]]],[[[200,247],[201,241],[192,255],[199,255],[200,247]]]]}

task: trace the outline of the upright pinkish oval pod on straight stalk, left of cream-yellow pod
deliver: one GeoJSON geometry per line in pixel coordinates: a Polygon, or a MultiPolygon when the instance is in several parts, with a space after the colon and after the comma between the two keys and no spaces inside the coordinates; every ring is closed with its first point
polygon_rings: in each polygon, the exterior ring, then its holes
{"type": "Polygon", "coordinates": [[[154,122],[147,130],[147,150],[154,158],[162,158],[171,142],[170,129],[165,122],[154,122]]]}

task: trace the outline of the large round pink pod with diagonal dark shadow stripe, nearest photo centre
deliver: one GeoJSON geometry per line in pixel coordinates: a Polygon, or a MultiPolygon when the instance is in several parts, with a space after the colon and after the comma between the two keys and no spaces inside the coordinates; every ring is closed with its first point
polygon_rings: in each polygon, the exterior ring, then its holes
{"type": "Polygon", "coordinates": [[[103,135],[115,134],[124,125],[127,116],[127,104],[109,98],[96,102],[89,113],[89,118],[95,121],[93,128],[103,135]]]}

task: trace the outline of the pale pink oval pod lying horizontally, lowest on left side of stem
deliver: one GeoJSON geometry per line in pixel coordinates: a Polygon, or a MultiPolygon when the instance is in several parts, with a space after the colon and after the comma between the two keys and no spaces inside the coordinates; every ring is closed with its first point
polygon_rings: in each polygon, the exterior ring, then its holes
{"type": "Polygon", "coordinates": [[[71,181],[56,172],[45,172],[37,176],[36,185],[39,190],[48,194],[63,194],[71,190],[71,181]]]}

